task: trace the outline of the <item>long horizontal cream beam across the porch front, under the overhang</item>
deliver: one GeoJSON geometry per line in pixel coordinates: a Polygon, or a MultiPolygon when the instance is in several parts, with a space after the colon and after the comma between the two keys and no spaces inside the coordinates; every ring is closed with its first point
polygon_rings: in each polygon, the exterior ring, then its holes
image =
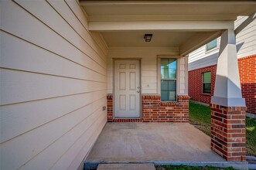
{"type": "Polygon", "coordinates": [[[201,31],[234,29],[233,21],[143,21],[143,22],[89,22],[90,31],[176,30],[201,31]]]}

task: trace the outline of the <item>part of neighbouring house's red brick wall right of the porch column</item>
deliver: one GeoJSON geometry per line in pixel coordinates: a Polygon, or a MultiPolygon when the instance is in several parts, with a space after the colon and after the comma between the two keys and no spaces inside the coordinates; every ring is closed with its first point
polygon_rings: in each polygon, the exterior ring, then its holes
{"type": "Polygon", "coordinates": [[[256,55],[238,59],[238,67],[247,112],[256,114],[256,55]]]}

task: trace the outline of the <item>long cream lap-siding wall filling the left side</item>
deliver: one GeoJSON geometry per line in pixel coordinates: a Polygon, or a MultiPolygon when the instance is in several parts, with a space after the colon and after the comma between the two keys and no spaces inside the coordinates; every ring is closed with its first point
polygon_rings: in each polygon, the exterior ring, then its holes
{"type": "Polygon", "coordinates": [[[107,121],[108,47],[75,0],[0,8],[0,168],[78,168],[107,121]]]}

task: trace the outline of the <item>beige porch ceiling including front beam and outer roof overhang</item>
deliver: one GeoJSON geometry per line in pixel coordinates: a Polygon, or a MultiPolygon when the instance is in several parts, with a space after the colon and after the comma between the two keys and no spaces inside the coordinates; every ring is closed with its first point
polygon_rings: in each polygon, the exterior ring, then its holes
{"type": "Polygon", "coordinates": [[[238,15],[256,11],[255,1],[87,1],[80,0],[90,31],[108,46],[175,46],[185,56],[234,29],[238,15]],[[152,42],[145,42],[152,33],[152,42]]]}

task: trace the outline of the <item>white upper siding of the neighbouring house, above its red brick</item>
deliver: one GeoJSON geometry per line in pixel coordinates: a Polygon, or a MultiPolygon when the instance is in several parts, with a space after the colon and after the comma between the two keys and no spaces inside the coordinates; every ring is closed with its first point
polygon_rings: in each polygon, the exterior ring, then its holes
{"type": "MultiPolygon", "coordinates": [[[[237,17],[234,22],[235,29],[245,19],[247,19],[247,16],[237,17]]],[[[238,59],[256,54],[256,19],[237,34],[236,43],[238,59]]],[[[220,38],[218,38],[217,44],[220,44],[220,38]]],[[[206,53],[206,46],[201,46],[189,53],[189,71],[217,64],[218,54],[218,48],[206,53]]]]}

